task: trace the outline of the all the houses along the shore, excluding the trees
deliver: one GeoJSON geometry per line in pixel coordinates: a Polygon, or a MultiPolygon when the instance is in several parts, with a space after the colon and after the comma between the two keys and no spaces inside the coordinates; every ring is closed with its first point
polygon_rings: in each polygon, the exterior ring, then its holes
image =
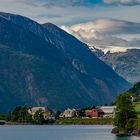
{"type": "MultiPolygon", "coordinates": [[[[37,111],[42,111],[45,120],[55,120],[55,113],[48,107],[32,107],[28,112],[34,116],[37,111]]],[[[93,109],[66,109],[59,118],[113,118],[116,106],[101,106],[93,109]]]]}

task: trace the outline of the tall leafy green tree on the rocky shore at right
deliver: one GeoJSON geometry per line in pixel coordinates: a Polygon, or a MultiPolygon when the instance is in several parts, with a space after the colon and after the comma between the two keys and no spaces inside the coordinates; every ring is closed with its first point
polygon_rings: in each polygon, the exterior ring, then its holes
{"type": "Polygon", "coordinates": [[[116,105],[114,125],[121,132],[128,133],[129,131],[132,131],[135,122],[130,120],[137,119],[137,116],[133,107],[131,94],[126,92],[118,96],[116,105]]]}

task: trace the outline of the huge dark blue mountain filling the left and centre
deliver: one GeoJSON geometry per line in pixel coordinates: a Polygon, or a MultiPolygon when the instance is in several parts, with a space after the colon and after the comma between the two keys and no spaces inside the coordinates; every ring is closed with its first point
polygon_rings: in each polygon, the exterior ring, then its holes
{"type": "Polygon", "coordinates": [[[0,112],[109,103],[130,84],[53,24],[0,13],[0,112]],[[5,103],[6,102],[6,103],[5,103]]]}

